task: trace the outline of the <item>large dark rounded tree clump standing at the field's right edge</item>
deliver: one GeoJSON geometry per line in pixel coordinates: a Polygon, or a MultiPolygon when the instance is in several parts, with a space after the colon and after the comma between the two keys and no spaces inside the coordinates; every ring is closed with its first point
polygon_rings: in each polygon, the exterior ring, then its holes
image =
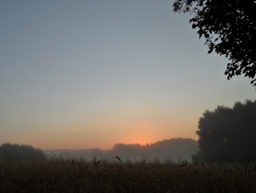
{"type": "Polygon", "coordinates": [[[206,110],[196,134],[200,151],[194,161],[235,162],[245,155],[256,161],[256,100],[206,110]]]}

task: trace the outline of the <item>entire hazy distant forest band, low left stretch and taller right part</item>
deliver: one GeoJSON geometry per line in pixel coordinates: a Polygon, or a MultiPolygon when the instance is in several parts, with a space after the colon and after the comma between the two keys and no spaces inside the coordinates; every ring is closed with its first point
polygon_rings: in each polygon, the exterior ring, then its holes
{"type": "Polygon", "coordinates": [[[81,149],[81,150],[47,150],[47,158],[84,158],[111,159],[117,156],[122,162],[140,162],[142,159],[153,162],[192,161],[191,156],[198,151],[198,143],[193,139],[172,138],[142,146],[141,144],[115,144],[111,150],[81,149]]]}

